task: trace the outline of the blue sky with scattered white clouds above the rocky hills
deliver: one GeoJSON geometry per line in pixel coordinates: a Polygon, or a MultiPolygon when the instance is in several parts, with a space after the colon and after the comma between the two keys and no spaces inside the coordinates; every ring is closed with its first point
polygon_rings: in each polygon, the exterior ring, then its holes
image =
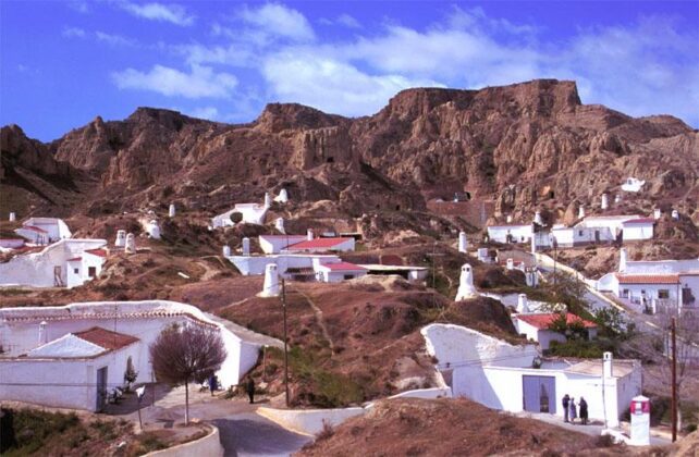
{"type": "Polygon", "coordinates": [[[41,140],[136,107],[372,114],[416,86],[576,79],[699,126],[699,1],[0,1],[0,123],[41,140]]]}

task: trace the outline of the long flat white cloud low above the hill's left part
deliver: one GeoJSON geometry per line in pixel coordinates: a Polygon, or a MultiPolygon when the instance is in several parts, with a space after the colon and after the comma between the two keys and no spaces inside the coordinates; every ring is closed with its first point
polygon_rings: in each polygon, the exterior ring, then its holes
{"type": "Polygon", "coordinates": [[[139,89],[168,97],[226,98],[237,86],[237,78],[230,73],[216,73],[209,66],[193,65],[189,73],[162,65],[154,65],[149,72],[126,69],[112,73],[120,89],[139,89]]]}

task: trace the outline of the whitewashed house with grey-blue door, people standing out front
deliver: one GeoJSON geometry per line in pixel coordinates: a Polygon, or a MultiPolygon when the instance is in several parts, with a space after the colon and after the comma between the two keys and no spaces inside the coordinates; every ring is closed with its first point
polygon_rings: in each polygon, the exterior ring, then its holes
{"type": "Polygon", "coordinates": [[[641,392],[637,360],[542,360],[534,345],[514,346],[475,330],[430,324],[421,330],[428,354],[452,388],[489,408],[563,418],[565,394],[585,397],[589,418],[618,427],[620,416],[641,392]]]}

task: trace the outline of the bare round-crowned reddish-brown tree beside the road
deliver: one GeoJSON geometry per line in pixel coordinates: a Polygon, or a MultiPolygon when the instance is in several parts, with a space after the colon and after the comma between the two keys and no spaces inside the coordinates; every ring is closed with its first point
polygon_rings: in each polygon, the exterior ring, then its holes
{"type": "Polygon", "coordinates": [[[184,422],[189,423],[189,383],[201,383],[217,372],[226,351],[218,329],[199,324],[173,324],[150,345],[156,379],[171,385],[184,384],[184,422]]]}

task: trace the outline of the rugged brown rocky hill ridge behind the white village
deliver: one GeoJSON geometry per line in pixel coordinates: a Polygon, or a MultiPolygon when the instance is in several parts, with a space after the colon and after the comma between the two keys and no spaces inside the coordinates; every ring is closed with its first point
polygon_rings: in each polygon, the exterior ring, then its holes
{"type": "Polygon", "coordinates": [[[429,199],[464,192],[493,202],[495,219],[529,220],[535,208],[563,219],[577,205],[589,212],[634,176],[647,185],[626,209],[672,203],[699,221],[697,131],[667,115],[634,119],[582,104],[574,82],[553,79],[408,89],[359,119],[272,103],[255,122],[230,125],[139,108],[50,144],[7,126],[2,170],[3,194],[22,198],[3,197],[1,218],[169,201],[216,211],[286,187],[297,202],[330,200],[352,217],[424,211],[429,199]]]}

